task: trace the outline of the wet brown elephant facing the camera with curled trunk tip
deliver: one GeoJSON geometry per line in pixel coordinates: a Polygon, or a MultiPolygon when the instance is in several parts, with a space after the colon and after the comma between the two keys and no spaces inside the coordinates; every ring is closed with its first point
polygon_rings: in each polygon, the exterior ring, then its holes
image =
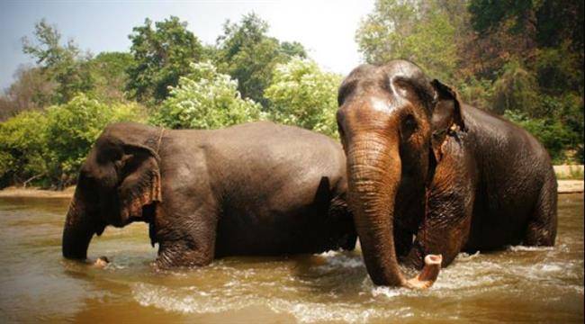
{"type": "Polygon", "coordinates": [[[553,246],[556,179],[517,125],[462,103],[402,59],[361,65],[338,89],[347,203],[375,284],[408,286],[399,264],[460,252],[553,246]]]}

